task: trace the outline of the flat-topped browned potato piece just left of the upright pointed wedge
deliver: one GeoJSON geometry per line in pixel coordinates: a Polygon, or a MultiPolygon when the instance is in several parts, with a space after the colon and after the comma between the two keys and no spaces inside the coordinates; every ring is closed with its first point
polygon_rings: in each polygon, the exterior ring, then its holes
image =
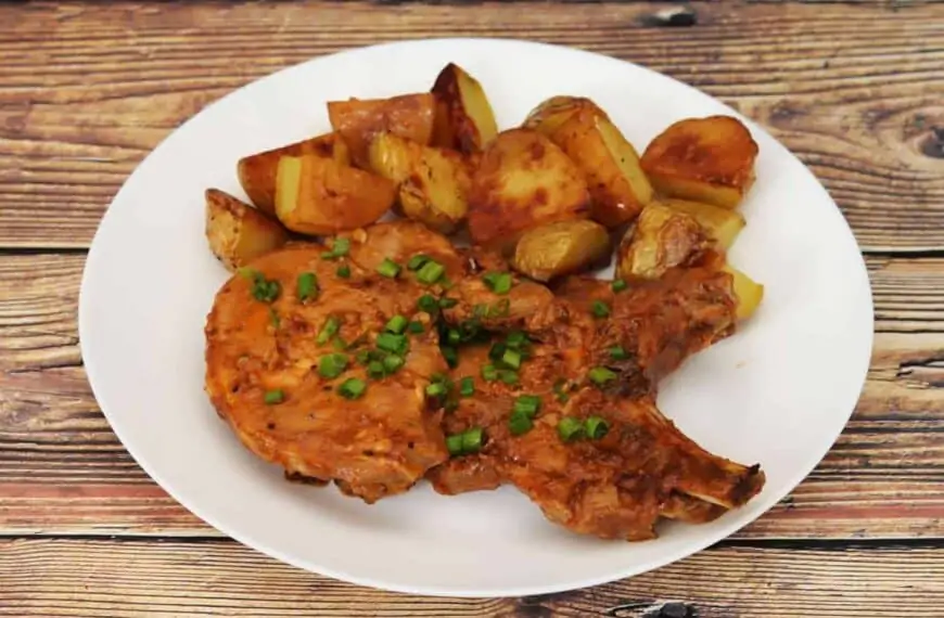
{"type": "Polygon", "coordinates": [[[328,103],[331,128],[350,149],[354,165],[370,165],[368,149],[377,133],[393,133],[428,145],[433,138],[436,96],[429,92],[391,99],[350,99],[328,103]]]}

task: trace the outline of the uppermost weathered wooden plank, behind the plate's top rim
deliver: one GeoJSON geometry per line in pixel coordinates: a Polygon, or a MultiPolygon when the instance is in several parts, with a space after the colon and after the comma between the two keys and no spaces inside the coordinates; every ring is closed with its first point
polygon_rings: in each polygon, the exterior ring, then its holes
{"type": "Polygon", "coordinates": [[[0,5],[0,246],[88,246],[150,149],[257,77],[470,35],[570,44],[692,83],[798,153],[867,250],[944,246],[944,4],[704,2],[696,26],[645,26],[660,7],[0,5]]]}

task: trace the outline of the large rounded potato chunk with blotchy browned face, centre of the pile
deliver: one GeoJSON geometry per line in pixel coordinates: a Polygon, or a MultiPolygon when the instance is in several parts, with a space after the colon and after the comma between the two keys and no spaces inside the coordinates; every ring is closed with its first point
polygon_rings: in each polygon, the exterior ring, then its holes
{"type": "Polygon", "coordinates": [[[502,131],[488,144],[469,191],[469,234],[475,244],[511,249],[531,228],[585,219],[590,194],[579,168],[531,129],[502,131]]]}

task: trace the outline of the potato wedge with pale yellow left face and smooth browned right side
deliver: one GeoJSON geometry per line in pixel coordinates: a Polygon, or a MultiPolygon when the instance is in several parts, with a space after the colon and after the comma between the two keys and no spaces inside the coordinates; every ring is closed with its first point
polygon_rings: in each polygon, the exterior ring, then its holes
{"type": "Polygon", "coordinates": [[[380,219],[396,198],[396,184],[316,155],[279,159],[276,214],[293,232],[334,234],[380,219]]]}

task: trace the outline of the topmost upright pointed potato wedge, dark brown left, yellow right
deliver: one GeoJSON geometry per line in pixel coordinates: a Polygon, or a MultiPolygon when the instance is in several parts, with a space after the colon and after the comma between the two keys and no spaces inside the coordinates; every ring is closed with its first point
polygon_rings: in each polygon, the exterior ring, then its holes
{"type": "Polygon", "coordinates": [[[479,81],[449,63],[433,83],[436,120],[433,143],[470,154],[481,152],[498,134],[495,112],[479,81]]]}

